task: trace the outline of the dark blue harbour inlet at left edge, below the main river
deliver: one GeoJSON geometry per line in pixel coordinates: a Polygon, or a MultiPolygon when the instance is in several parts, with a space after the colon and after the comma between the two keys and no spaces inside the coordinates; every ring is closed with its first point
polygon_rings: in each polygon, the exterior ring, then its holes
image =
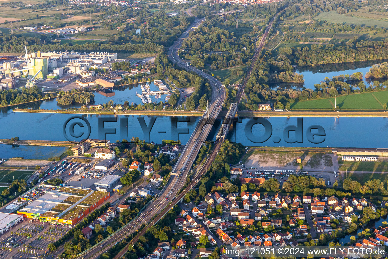
{"type": "Polygon", "coordinates": [[[0,144],[0,158],[42,159],[62,155],[69,147],[0,144]]]}

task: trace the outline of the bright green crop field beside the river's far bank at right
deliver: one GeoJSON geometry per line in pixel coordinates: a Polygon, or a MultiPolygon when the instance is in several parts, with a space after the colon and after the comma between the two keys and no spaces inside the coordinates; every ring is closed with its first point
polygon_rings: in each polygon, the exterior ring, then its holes
{"type": "MultiPolygon", "coordinates": [[[[291,103],[292,110],[331,110],[334,98],[315,99],[291,103]]],[[[382,110],[388,103],[388,91],[350,94],[337,97],[337,105],[341,110],[382,110]]]]}

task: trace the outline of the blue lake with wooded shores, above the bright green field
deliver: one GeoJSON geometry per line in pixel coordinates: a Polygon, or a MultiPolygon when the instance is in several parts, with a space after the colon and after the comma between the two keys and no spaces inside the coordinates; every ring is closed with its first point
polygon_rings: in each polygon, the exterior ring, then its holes
{"type": "MultiPolygon", "coordinates": [[[[314,89],[314,85],[320,83],[325,77],[333,78],[333,76],[339,75],[352,75],[355,72],[362,72],[365,76],[369,69],[374,64],[386,62],[386,60],[373,60],[373,61],[360,61],[354,63],[341,63],[341,64],[322,64],[317,66],[303,66],[295,69],[295,72],[303,75],[304,83],[272,83],[271,87],[281,88],[296,88],[301,89],[303,86],[309,89],[314,89]]],[[[378,80],[384,82],[384,80],[378,80]]],[[[364,83],[368,87],[372,82],[364,78],[364,83]]],[[[355,87],[355,86],[354,86],[355,87]]]]}

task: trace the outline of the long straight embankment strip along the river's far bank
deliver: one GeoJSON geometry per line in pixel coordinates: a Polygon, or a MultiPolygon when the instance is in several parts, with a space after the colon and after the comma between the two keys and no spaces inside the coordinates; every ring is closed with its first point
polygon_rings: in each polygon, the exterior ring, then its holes
{"type": "MultiPolygon", "coordinates": [[[[101,114],[101,115],[154,115],[154,116],[202,116],[203,111],[102,111],[102,110],[34,110],[16,108],[14,112],[29,113],[68,113],[68,114],[101,114]]],[[[225,116],[227,111],[221,111],[225,116]]],[[[237,111],[241,117],[388,117],[387,111],[237,111]]]]}

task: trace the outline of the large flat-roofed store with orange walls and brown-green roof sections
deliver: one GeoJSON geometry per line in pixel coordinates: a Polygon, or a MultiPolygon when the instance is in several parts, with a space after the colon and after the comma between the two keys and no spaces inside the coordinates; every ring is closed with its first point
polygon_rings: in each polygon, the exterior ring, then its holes
{"type": "Polygon", "coordinates": [[[17,214],[52,224],[74,225],[109,199],[109,192],[61,187],[49,189],[17,214]]]}

